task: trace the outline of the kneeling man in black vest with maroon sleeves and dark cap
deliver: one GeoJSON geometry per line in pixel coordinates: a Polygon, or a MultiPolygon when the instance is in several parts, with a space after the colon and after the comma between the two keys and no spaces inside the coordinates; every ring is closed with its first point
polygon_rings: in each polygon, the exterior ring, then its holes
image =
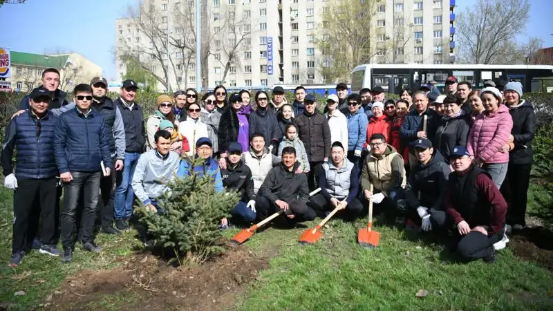
{"type": "Polygon", "coordinates": [[[453,173],[445,191],[445,207],[460,236],[458,253],[467,259],[495,263],[496,249],[505,234],[507,202],[489,173],[471,163],[465,147],[449,155],[453,173]]]}

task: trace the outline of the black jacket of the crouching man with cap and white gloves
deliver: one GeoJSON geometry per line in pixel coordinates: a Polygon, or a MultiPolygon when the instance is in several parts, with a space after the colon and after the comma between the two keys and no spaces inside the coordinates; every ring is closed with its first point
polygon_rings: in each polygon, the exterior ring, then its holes
{"type": "Polygon", "coordinates": [[[450,173],[449,164],[444,162],[442,154],[436,149],[426,165],[415,164],[405,185],[405,198],[409,207],[428,207],[430,214],[432,211],[444,210],[444,193],[450,173]]]}

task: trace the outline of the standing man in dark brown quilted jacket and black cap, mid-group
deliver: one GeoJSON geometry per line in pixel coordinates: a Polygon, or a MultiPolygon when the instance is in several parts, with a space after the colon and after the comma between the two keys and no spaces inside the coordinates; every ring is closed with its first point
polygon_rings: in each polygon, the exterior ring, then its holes
{"type": "Polygon", "coordinates": [[[313,95],[307,95],[303,102],[306,111],[296,117],[299,139],[306,146],[306,152],[311,171],[308,184],[310,191],[317,188],[315,178],[321,173],[321,164],[330,156],[330,127],[324,115],[317,111],[317,102],[313,95]]]}

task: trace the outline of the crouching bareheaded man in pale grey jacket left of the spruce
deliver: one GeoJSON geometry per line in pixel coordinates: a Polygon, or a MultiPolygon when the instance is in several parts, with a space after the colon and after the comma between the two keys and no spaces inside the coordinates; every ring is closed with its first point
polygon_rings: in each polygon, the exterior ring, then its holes
{"type": "Polygon", "coordinates": [[[132,187],[135,196],[149,211],[162,212],[158,198],[169,191],[167,182],[178,169],[180,156],[171,149],[171,133],[157,131],[153,135],[156,149],[142,154],[136,164],[132,187]]]}

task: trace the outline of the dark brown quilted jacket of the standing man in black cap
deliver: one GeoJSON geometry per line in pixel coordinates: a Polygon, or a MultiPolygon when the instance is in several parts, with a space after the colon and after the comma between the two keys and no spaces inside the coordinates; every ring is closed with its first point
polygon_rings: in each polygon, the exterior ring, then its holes
{"type": "Polygon", "coordinates": [[[307,111],[296,118],[299,140],[306,146],[310,162],[322,162],[330,158],[330,127],[324,115],[315,111],[309,115],[307,111]]]}

